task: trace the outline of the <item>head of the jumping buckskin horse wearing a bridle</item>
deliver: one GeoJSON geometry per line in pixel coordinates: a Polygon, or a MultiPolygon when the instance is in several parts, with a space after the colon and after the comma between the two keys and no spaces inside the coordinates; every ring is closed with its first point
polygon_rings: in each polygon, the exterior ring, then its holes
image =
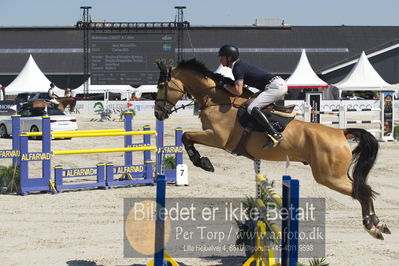
{"type": "Polygon", "coordinates": [[[157,62],[160,70],[158,92],[155,99],[154,114],[158,120],[165,120],[172,113],[172,108],[186,93],[183,83],[173,76],[173,69],[157,62]]]}

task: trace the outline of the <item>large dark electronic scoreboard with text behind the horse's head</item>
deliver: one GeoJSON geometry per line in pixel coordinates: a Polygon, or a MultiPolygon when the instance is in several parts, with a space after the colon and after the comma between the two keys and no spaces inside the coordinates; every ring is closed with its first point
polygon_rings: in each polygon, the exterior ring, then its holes
{"type": "Polygon", "coordinates": [[[176,47],[173,33],[92,33],[91,84],[157,84],[155,62],[173,65],[176,47]]]}

